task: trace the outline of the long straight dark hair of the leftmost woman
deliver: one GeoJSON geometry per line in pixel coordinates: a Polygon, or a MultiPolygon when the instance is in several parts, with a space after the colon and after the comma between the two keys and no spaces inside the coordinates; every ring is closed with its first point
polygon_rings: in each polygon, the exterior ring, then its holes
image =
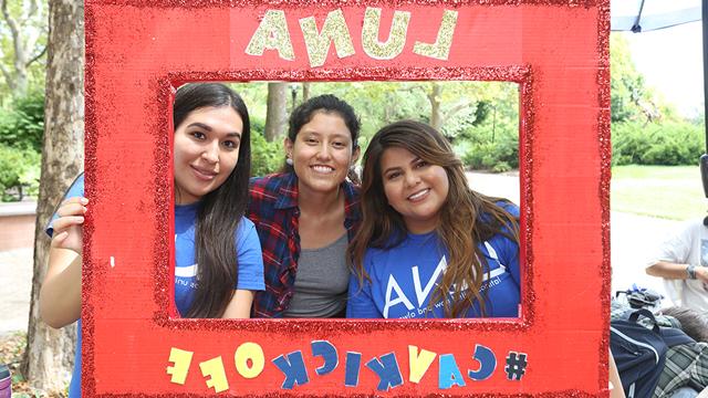
{"type": "Polygon", "coordinates": [[[197,290],[186,317],[221,317],[238,283],[233,238],[248,203],[251,174],[251,124],[243,100],[220,83],[187,84],[175,95],[175,129],[190,112],[204,107],[230,106],[241,117],[243,132],[239,160],[223,184],[201,198],[195,230],[197,290]]]}

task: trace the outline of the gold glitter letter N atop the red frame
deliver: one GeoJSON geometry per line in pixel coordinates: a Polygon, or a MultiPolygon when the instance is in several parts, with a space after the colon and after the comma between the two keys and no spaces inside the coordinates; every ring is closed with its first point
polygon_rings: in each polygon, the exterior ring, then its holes
{"type": "Polygon", "coordinates": [[[314,17],[308,17],[300,20],[300,29],[305,38],[308,55],[310,56],[310,66],[317,67],[324,65],[330,52],[330,42],[334,41],[336,56],[345,57],[354,55],[354,44],[350,30],[346,28],[346,21],[342,10],[336,9],[327,14],[324,20],[322,32],[317,32],[317,24],[314,17]]]}

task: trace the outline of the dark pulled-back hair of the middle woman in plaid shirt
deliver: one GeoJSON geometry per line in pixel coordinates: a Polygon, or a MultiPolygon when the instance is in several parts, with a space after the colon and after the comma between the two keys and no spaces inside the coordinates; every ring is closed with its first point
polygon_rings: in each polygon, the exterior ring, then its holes
{"type": "MultiPolygon", "coordinates": [[[[358,148],[358,135],[362,124],[352,105],[332,94],[319,95],[298,105],[290,115],[290,121],[288,123],[288,139],[294,143],[302,126],[310,123],[319,112],[324,114],[335,114],[342,117],[344,125],[346,125],[346,128],[352,135],[352,153],[354,153],[354,150],[358,148]]],[[[294,169],[292,166],[284,164],[281,171],[294,172],[294,169]]],[[[352,169],[350,169],[346,176],[352,180],[352,182],[357,185],[360,184],[358,176],[352,169]]]]}

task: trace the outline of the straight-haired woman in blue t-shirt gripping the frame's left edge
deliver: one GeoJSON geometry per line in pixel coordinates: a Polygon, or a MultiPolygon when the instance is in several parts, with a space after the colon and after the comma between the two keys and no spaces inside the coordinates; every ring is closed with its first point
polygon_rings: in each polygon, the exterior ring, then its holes
{"type": "MultiPolygon", "coordinates": [[[[174,126],[177,311],[184,317],[247,318],[253,292],[264,289],[258,234],[243,217],[251,164],[248,109],[223,84],[187,84],[175,95],[174,126]]],[[[82,228],[91,206],[83,195],[80,176],[46,229],[52,244],[40,315],[52,327],[81,315],[82,228]]],[[[81,394],[76,353],[70,397],[81,394]]]]}

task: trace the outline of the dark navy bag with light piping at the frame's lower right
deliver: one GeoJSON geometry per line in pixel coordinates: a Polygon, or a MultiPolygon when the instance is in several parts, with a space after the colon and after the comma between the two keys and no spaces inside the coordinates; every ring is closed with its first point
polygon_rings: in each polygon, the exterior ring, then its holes
{"type": "Polygon", "coordinates": [[[627,398],[650,398],[659,381],[668,347],[694,343],[683,331],[659,328],[654,314],[638,310],[627,321],[610,323],[610,348],[617,365],[620,379],[627,398]],[[647,328],[637,323],[643,315],[654,323],[647,328]]]}

